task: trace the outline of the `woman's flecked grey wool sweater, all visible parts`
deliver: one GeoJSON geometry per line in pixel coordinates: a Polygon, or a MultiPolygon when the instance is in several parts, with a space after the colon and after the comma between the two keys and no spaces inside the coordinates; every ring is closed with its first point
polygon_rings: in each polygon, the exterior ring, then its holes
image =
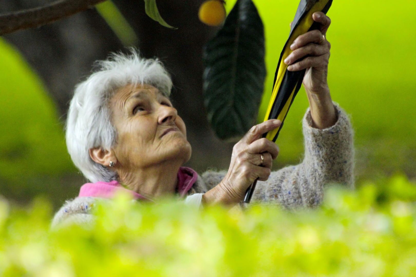
{"type": "MultiPolygon", "coordinates": [[[[327,129],[312,127],[308,109],[303,121],[305,157],[302,163],[272,172],[267,181],[258,181],[252,202],[275,203],[285,208],[314,207],[323,199],[324,186],[354,186],[353,131],[347,114],[335,105],[337,122],[327,129]]],[[[207,171],[198,176],[188,195],[205,193],[220,183],[227,172],[207,171]]],[[[66,201],[55,214],[52,226],[63,221],[89,223],[97,197],[77,197],[66,201]]]]}

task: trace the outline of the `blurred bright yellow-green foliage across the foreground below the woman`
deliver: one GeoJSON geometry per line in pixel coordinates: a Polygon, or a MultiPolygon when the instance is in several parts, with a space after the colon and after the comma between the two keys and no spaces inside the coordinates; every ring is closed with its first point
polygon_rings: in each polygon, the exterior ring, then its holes
{"type": "Polygon", "coordinates": [[[332,186],[323,206],[197,211],[120,196],[89,226],[49,230],[50,206],[0,201],[2,276],[414,276],[416,186],[402,176],[358,191],[332,186]]]}

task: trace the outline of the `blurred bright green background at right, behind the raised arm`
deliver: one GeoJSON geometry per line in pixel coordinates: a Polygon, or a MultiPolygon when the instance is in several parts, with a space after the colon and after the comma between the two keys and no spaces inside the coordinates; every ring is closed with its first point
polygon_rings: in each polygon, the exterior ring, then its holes
{"type": "MultiPolygon", "coordinates": [[[[299,0],[253,0],[265,25],[267,79],[258,116],[264,119],[280,52],[299,0]]],[[[235,0],[227,0],[227,11],[235,0]]],[[[332,44],[328,82],[332,98],[354,124],[359,179],[394,172],[416,177],[415,1],[334,0],[328,16],[332,44]]],[[[277,162],[302,155],[301,120],[308,106],[298,93],[280,132],[277,162]]]]}

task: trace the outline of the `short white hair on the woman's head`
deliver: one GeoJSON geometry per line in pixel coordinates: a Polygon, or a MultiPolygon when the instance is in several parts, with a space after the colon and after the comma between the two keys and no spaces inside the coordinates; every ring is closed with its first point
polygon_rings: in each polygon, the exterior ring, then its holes
{"type": "Polygon", "coordinates": [[[75,166],[92,182],[112,181],[116,173],[94,162],[89,150],[116,144],[117,132],[111,123],[109,100],[114,91],[128,84],[149,84],[169,97],[171,78],[158,59],[141,58],[135,49],[130,54],[111,54],[97,61],[98,70],[75,88],[69,105],[66,140],[75,166]]]}

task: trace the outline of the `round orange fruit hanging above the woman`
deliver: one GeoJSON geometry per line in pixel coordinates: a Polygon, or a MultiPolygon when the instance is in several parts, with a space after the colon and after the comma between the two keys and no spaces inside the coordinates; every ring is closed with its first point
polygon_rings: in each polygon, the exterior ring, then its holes
{"type": "Polygon", "coordinates": [[[206,25],[219,26],[225,20],[224,2],[221,0],[208,0],[199,7],[199,20],[206,25]]]}

